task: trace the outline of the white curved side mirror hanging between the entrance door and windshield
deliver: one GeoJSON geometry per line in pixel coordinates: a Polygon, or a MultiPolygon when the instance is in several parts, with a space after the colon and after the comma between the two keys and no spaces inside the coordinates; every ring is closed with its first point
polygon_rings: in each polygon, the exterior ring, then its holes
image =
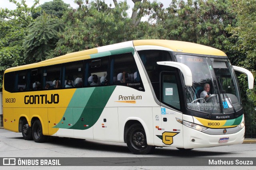
{"type": "Polygon", "coordinates": [[[190,68],[185,64],[173,62],[173,61],[160,61],[156,63],[159,65],[172,66],[172,67],[178,68],[184,76],[185,85],[190,87],[192,86],[192,72],[190,68]]]}

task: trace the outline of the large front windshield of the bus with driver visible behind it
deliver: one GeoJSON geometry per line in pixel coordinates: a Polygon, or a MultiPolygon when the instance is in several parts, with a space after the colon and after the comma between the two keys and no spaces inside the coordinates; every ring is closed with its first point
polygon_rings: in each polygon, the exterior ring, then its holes
{"type": "Polygon", "coordinates": [[[192,72],[193,85],[186,88],[188,109],[208,115],[236,113],[242,109],[238,84],[228,59],[180,54],[176,59],[192,72]]]}

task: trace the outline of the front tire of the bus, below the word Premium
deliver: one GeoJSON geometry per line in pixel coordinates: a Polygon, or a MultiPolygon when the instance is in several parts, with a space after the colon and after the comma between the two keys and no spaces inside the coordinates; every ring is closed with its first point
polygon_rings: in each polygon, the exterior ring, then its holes
{"type": "Polygon", "coordinates": [[[134,154],[149,154],[155,146],[147,144],[146,133],[141,124],[131,125],[127,133],[128,149],[134,154]]]}

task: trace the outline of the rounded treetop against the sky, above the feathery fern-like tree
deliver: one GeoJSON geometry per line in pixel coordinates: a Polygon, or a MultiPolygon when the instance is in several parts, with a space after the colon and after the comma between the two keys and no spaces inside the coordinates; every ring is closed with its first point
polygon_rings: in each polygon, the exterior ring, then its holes
{"type": "Polygon", "coordinates": [[[32,18],[36,19],[38,16],[45,12],[48,15],[56,16],[61,18],[63,14],[70,7],[69,4],[64,3],[62,0],[53,0],[50,2],[45,2],[44,4],[36,8],[36,12],[32,13],[32,18]]]}

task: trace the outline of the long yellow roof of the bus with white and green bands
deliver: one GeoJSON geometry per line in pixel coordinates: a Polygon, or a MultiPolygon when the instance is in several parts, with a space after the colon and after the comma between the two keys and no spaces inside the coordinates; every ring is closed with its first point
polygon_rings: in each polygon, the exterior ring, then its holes
{"type": "Polygon", "coordinates": [[[196,44],[196,43],[189,43],[184,41],[161,40],[161,39],[134,40],[134,41],[126,41],[126,42],[112,44],[112,45],[106,45],[106,46],[97,47],[94,49],[88,49],[84,51],[78,51],[74,53],[68,53],[66,55],[41,61],[39,63],[8,68],[6,72],[23,70],[28,68],[36,68],[41,66],[48,66],[53,64],[67,63],[71,61],[79,61],[84,59],[92,59],[97,57],[103,57],[106,55],[134,52],[135,51],[134,47],[142,46],[142,45],[156,46],[156,48],[154,49],[157,49],[157,46],[165,47],[170,49],[170,51],[176,51],[179,53],[226,57],[226,54],[218,49],[208,47],[205,45],[196,44]]]}

